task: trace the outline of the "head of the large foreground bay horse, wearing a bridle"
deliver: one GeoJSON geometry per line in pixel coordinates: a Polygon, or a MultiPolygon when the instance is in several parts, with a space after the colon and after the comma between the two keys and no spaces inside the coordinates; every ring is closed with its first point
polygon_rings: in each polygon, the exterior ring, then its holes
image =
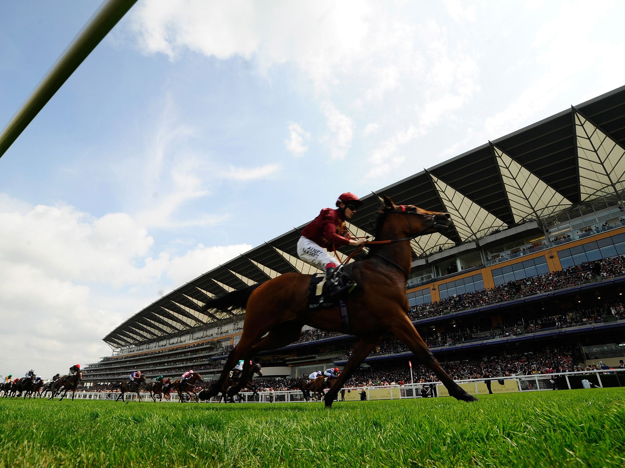
{"type": "Polygon", "coordinates": [[[395,205],[387,195],[382,198],[384,201],[382,215],[386,215],[386,223],[392,217],[394,227],[404,237],[446,232],[452,225],[449,213],[430,212],[414,205],[395,205]]]}

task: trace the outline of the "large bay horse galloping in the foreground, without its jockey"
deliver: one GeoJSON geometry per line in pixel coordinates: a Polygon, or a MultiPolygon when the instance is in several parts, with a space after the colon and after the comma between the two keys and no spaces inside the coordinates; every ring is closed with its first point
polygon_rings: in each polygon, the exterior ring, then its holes
{"type": "MultiPolygon", "coordinates": [[[[246,376],[249,362],[256,354],[297,341],[302,326],[309,325],[360,338],[345,368],[327,391],[326,407],[332,406],[345,381],[387,333],[406,344],[421,364],[438,376],[451,396],[462,401],[476,401],[476,397],[464,391],[441,368],[407,316],[406,280],[412,261],[410,240],[445,232],[451,224],[448,213],[429,212],[414,205],[397,206],[391,198],[384,196],[384,207],[377,218],[375,241],[369,243],[369,254],[364,260],[352,263],[357,287],[345,299],[349,327],[342,323],[338,306],[307,310],[311,275],[301,273],[285,273],[208,301],[205,310],[246,310],[241,341],[230,353],[209,396],[219,394],[230,369],[239,359],[245,361],[241,375],[246,376]]],[[[245,384],[239,379],[237,388],[241,389],[245,384]]]]}

